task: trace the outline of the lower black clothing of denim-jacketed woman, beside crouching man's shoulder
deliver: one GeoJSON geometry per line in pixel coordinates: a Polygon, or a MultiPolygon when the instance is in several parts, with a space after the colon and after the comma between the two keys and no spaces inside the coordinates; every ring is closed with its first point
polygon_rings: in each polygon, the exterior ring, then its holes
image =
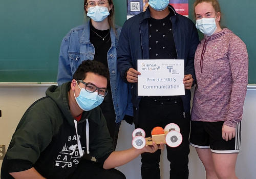
{"type": "Polygon", "coordinates": [[[110,137],[113,139],[113,147],[115,150],[121,122],[116,123],[116,114],[111,92],[106,94],[104,101],[100,104],[100,108],[106,119],[106,125],[108,126],[110,137]]]}

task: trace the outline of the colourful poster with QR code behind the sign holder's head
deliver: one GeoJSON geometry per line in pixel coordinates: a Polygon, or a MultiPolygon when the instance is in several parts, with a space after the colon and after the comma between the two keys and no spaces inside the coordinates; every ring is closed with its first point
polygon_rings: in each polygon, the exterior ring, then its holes
{"type": "MultiPolygon", "coordinates": [[[[127,1],[127,19],[146,10],[150,0],[126,0],[127,1]]],[[[188,0],[169,0],[176,12],[188,17],[188,0]]]]}

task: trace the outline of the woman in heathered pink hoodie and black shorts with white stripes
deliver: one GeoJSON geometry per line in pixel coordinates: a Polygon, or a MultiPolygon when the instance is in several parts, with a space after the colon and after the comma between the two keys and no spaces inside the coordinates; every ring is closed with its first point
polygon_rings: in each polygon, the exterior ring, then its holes
{"type": "Polygon", "coordinates": [[[190,145],[196,147],[207,179],[238,178],[235,167],[248,83],[246,46],[231,30],[221,28],[217,0],[196,0],[194,10],[204,38],[195,54],[190,145]]]}

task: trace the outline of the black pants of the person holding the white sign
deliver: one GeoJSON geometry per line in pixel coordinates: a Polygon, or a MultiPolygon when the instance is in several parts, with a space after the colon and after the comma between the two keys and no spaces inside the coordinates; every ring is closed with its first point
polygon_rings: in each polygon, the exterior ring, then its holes
{"type": "MultiPolygon", "coordinates": [[[[183,115],[183,104],[181,99],[177,100],[153,100],[145,97],[141,99],[139,106],[139,128],[145,130],[146,137],[151,136],[151,130],[160,126],[164,128],[169,123],[175,123],[180,127],[183,141],[176,148],[168,147],[167,159],[170,162],[170,178],[188,178],[188,154],[189,154],[189,130],[190,114],[183,115]]],[[[141,176],[142,179],[160,179],[160,154],[155,153],[141,154],[141,176]]]]}

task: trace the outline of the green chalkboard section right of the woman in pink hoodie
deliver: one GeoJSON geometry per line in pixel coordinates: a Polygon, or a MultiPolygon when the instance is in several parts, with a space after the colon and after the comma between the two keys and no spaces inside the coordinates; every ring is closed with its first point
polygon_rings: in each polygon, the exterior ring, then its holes
{"type": "Polygon", "coordinates": [[[233,31],[246,44],[249,56],[249,75],[248,83],[256,84],[256,23],[254,16],[256,16],[256,1],[255,0],[232,0],[219,1],[223,18],[222,25],[233,31]]]}

